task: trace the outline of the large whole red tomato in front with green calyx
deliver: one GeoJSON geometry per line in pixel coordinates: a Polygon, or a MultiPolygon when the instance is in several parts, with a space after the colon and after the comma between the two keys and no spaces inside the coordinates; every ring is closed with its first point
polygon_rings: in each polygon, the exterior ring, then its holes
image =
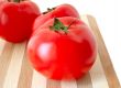
{"type": "Polygon", "coordinates": [[[92,32],[79,19],[48,20],[28,44],[29,61],[51,79],[81,78],[94,65],[97,44],[92,32]]]}

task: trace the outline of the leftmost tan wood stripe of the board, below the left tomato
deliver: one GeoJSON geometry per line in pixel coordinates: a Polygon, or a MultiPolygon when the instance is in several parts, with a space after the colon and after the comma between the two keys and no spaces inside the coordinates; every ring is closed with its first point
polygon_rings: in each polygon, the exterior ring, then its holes
{"type": "Polygon", "coordinates": [[[4,77],[11,62],[13,48],[14,46],[12,43],[6,42],[3,51],[0,55],[0,88],[3,86],[4,77]]]}

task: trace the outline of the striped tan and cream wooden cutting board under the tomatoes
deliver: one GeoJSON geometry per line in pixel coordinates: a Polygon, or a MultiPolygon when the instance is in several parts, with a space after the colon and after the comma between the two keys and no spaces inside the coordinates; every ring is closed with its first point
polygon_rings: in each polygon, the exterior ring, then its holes
{"type": "Polygon", "coordinates": [[[31,67],[25,42],[12,44],[0,40],[0,88],[120,88],[96,20],[91,15],[84,15],[81,20],[92,30],[98,43],[97,61],[82,79],[46,79],[31,67]]]}

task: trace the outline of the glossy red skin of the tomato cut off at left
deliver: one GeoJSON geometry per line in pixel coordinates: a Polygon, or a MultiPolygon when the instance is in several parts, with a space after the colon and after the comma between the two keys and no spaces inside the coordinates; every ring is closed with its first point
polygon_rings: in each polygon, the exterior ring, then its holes
{"type": "Polygon", "coordinates": [[[31,1],[4,2],[0,8],[0,37],[13,43],[29,40],[32,24],[40,14],[31,1]]]}

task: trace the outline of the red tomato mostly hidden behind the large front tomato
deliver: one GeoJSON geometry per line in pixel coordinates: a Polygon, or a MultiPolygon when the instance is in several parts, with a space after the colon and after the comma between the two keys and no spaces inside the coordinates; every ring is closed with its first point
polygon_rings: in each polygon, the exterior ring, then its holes
{"type": "Polygon", "coordinates": [[[40,15],[33,25],[33,31],[35,31],[38,26],[43,25],[47,20],[53,18],[61,16],[74,16],[79,19],[79,13],[77,10],[70,4],[61,4],[53,9],[47,9],[48,11],[44,12],[44,14],[40,15]]]}

